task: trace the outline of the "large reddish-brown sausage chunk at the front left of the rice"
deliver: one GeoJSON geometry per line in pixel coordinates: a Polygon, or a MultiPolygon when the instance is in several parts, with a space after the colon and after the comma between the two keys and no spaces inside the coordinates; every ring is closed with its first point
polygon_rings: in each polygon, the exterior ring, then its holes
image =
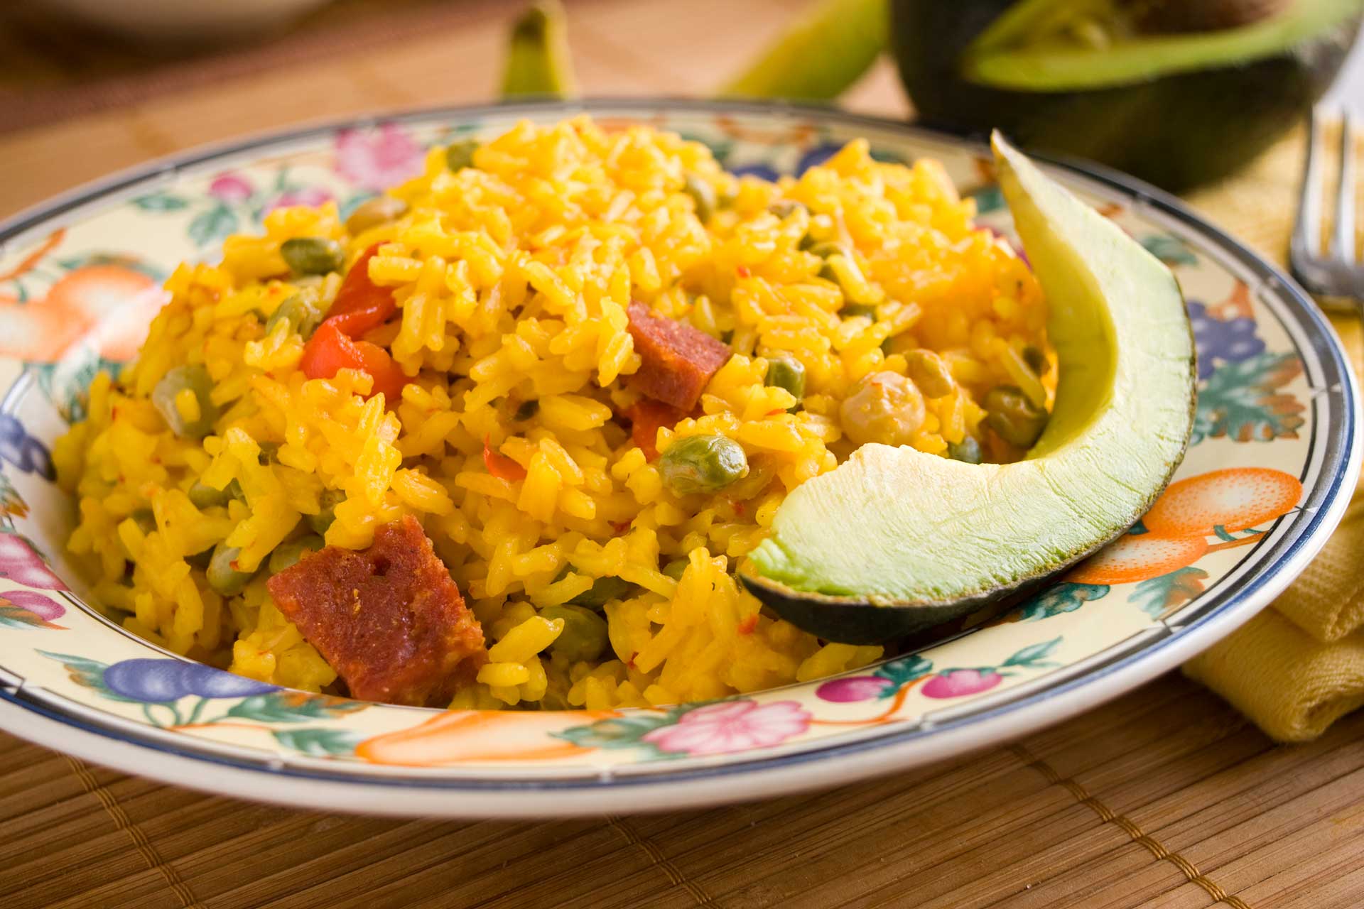
{"type": "Polygon", "coordinates": [[[412,515],[379,527],[368,549],[326,546],[267,586],[361,700],[443,707],[488,658],[483,628],[412,515]]]}

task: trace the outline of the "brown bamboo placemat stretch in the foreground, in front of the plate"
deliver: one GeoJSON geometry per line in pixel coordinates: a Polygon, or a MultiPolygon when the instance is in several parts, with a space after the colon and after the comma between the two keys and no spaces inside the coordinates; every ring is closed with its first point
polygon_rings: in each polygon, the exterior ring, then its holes
{"type": "Polygon", "coordinates": [[[1364,899],[1361,732],[1275,747],[1166,676],[877,782],[527,823],[273,808],[0,737],[0,905],[1345,909],[1364,899]]]}

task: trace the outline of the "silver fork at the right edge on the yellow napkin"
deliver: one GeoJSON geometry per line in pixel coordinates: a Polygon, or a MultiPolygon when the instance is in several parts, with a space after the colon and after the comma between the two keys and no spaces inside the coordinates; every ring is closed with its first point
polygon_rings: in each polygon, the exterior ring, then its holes
{"type": "Polygon", "coordinates": [[[1341,124],[1341,185],[1335,194],[1335,230],[1322,252],[1322,124],[1312,110],[1308,124],[1303,194],[1293,225],[1289,262],[1293,275],[1315,294],[1323,309],[1353,311],[1364,318],[1364,264],[1354,258],[1354,135],[1359,124],[1346,112],[1341,124]]]}

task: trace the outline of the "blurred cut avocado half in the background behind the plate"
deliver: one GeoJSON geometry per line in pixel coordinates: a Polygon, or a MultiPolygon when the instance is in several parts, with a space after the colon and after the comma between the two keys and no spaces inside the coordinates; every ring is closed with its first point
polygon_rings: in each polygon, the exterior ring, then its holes
{"type": "MultiPolygon", "coordinates": [[[[1330,86],[1364,0],[1163,0],[1263,18],[1162,31],[1162,0],[893,0],[891,46],[921,121],[1000,128],[1166,189],[1219,179],[1330,86]]],[[[1191,16],[1166,16],[1166,19],[1191,16]]]]}

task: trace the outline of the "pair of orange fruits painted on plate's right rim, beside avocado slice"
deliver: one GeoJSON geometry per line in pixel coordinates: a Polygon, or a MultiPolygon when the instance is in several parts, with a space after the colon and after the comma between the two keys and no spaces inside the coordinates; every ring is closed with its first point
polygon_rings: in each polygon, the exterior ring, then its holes
{"type": "Polygon", "coordinates": [[[1303,496],[1297,477],[1271,467],[1228,467],[1180,480],[1142,518],[1147,533],[1118,537],[1082,561],[1071,583],[1132,583],[1194,564],[1209,552],[1256,542],[1229,534],[1288,514],[1303,496]],[[1218,542],[1207,537],[1217,534],[1218,542]]]}

